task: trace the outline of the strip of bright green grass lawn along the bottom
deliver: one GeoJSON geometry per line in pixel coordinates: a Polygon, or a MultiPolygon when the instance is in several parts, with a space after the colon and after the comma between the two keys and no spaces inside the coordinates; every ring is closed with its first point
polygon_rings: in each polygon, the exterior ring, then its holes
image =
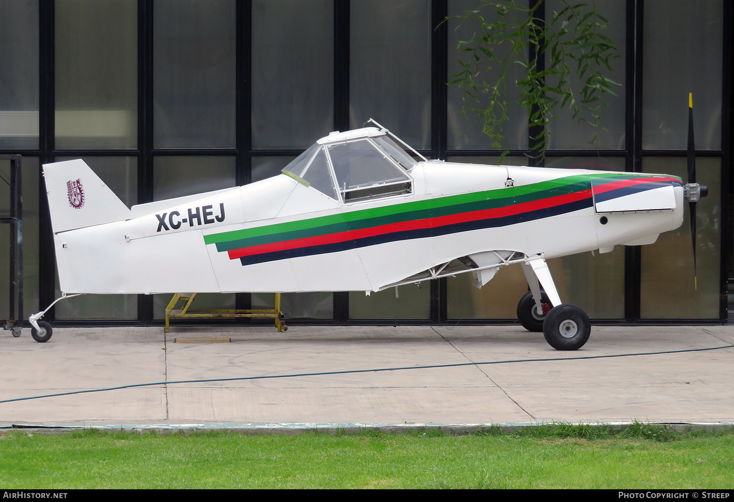
{"type": "Polygon", "coordinates": [[[543,426],[485,434],[0,436],[12,488],[734,487],[734,431],[543,426]]]}

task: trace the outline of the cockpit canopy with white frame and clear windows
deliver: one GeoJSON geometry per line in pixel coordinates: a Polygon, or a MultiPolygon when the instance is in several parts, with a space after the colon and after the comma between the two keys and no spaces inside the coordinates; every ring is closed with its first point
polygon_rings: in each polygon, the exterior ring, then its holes
{"type": "Polygon", "coordinates": [[[283,169],[345,203],[410,193],[416,162],[374,127],[335,132],[319,139],[283,169]]]}

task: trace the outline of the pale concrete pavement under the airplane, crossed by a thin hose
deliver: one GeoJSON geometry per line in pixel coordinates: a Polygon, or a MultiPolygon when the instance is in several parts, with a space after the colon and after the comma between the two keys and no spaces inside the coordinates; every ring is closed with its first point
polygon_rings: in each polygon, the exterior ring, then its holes
{"type": "Polygon", "coordinates": [[[346,427],[550,422],[734,423],[734,326],[592,327],[551,349],[519,326],[57,328],[0,332],[0,426],[346,427]],[[230,343],[175,343],[230,338],[230,343]],[[673,352],[690,351],[694,352],[673,352]],[[664,354],[626,355],[644,352],[664,354]],[[542,359],[557,359],[545,360],[542,359]],[[523,362],[475,364],[501,361],[523,362]]]}

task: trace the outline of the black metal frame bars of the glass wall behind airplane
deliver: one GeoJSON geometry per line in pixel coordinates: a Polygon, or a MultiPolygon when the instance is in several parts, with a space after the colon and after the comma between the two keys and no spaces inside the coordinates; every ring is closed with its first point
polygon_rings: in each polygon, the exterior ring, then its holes
{"type": "MultiPolygon", "coordinates": [[[[528,5],[537,0],[527,0],[528,5]]],[[[334,26],[334,128],[349,128],[349,0],[333,0],[334,26]]],[[[56,156],[135,156],[138,161],[138,202],[153,199],[153,156],[166,155],[225,155],[236,158],[236,182],[250,182],[252,156],[296,156],[301,150],[253,150],[250,134],[250,62],[252,44],[252,1],[236,1],[236,148],[206,149],[155,149],[153,148],[153,0],[137,0],[138,8],[138,148],[131,150],[57,150],[54,145],[54,2],[40,1],[40,146],[38,150],[2,150],[0,153],[20,153],[38,156],[40,164],[53,161],[56,156]]],[[[643,0],[626,0],[626,105],[625,134],[628,139],[625,150],[548,150],[548,157],[558,156],[623,156],[626,170],[640,172],[643,156],[685,156],[685,151],[642,150],[642,33],[643,0]]],[[[447,68],[448,68],[448,0],[431,0],[432,26],[432,148],[421,150],[434,159],[447,156],[499,156],[499,150],[456,150],[448,147],[447,139],[447,68]]],[[[542,11],[538,16],[544,15],[542,11]]],[[[722,208],[729,208],[731,162],[731,21],[732,7],[724,1],[723,33],[723,81],[722,81],[722,149],[697,152],[697,156],[715,156],[722,159],[722,208]]],[[[532,148],[533,145],[530,145],[532,148]]],[[[510,155],[528,156],[532,150],[511,150],[510,155]]],[[[55,277],[54,245],[43,177],[40,178],[40,277],[55,277]]],[[[625,317],[622,319],[595,319],[599,324],[682,324],[686,322],[711,323],[725,321],[727,317],[726,293],[730,266],[730,240],[734,230],[730,228],[729,211],[722,211],[722,268],[719,319],[640,319],[641,253],[639,247],[625,250],[625,317]]],[[[445,279],[431,281],[430,319],[403,319],[399,324],[505,324],[515,319],[448,319],[445,279]]],[[[39,285],[40,305],[54,300],[54,281],[44,280],[39,285]]],[[[319,320],[294,319],[291,324],[393,324],[392,319],[349,319],[349,294],[334,294],[334,318],[319,320]]],[[[250,308],[250,294],[236,294],[236,308],[250,308]]],[[[46,314],[54,321],[54,309],[46,314]]],[[[128,325],[129,320],[109,321],[57,321],[59,325],[128,325]]],[[[162,324],[153,319],[153,297],[139,295],[137,324],[162,324]]]]}

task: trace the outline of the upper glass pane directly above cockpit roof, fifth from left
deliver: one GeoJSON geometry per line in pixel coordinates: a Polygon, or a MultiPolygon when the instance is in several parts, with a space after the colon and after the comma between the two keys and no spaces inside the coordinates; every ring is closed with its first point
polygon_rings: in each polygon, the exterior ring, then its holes
{"type": "Polygon", "coordinates": [[[353,1],[349,12],[349,125],[374,118],[431,148],[431,2],[353,1]]]}

